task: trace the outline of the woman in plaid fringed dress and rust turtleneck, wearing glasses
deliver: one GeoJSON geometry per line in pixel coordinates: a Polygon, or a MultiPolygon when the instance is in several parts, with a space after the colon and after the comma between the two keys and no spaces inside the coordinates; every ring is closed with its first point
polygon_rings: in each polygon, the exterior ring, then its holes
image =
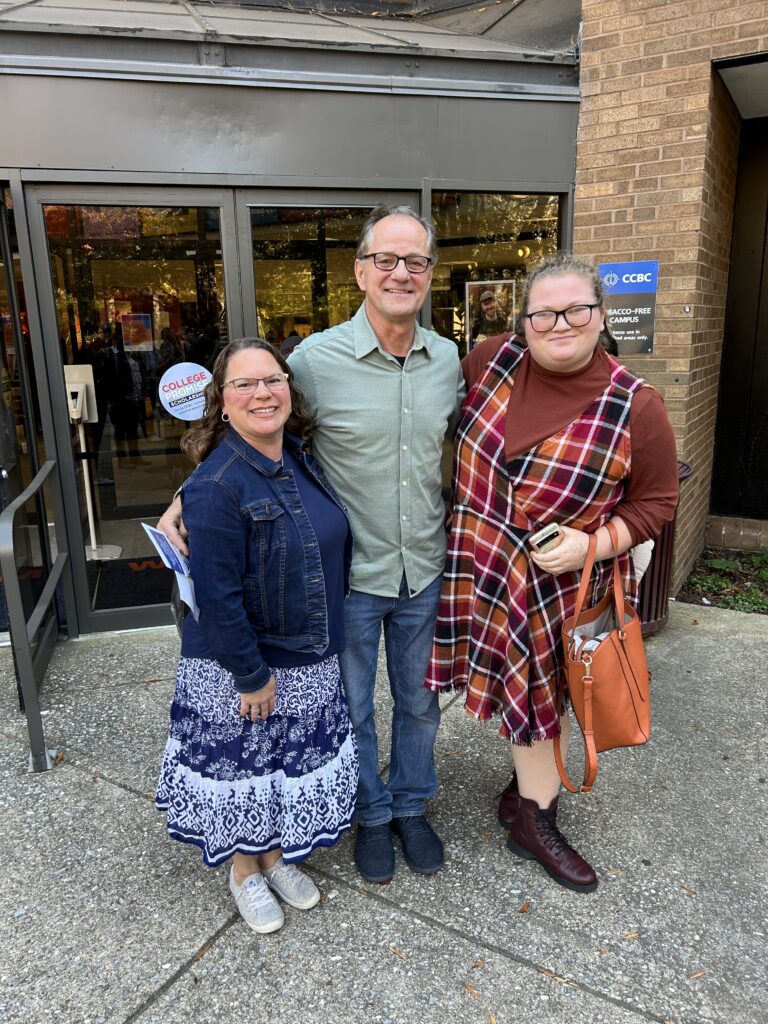
{"type": "Polygon", "coordinates": [[[427,686],[465,689],[466,710],[500,719],[514,776],[499,808],[508,845],[560,885],[592,892],[597,874],[557,828],[570,732],[557,707],[561,632],[573,610],[588,535],[597,536],[593,599],[607,587],[618,532],[629,549],[675,513],[675,439],[660,396],[600,344],[605,308],[594,267],[558,253],[527,278],[523,337],[488,338],[464,360],[468,394],[456,439],[453,516],[427,686]],[[546,553],[531,534],[556,522],[546,553]],[[605,561],[603,561],[605,560],[605,561]]]}

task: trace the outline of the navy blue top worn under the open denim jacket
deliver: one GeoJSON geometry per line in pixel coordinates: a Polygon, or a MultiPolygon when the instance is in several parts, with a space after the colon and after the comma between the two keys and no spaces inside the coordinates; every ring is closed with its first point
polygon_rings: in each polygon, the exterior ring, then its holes
{"type": "MultiPolygon", "coordinates": [[[[264,462],[270,462],[264,459],[264,462]]],[[[271,463],[279,470],[279,463],[271,463]]],[[[259,653],[270,668],[298,668],[316,665],[345,647],[344,637],[344,555],[348,525],[339,506],[323,490],[288,445],[283,449],[283,472],[294,478],[304,512],[316,538],[325,582],[328,646],[319,653],[275,647],[261,641],[259,653]]],[[[289,552],[290,557],[290,552],[289,552]]],[[[205,630],[193,615],[184,620],[181,654],[183,657],[215,658],[205,630]]],[[[240,687],[239,687],[240,688],[240,687]]],[[[256,687],[254,687],[255,689],[256,687]]]]}

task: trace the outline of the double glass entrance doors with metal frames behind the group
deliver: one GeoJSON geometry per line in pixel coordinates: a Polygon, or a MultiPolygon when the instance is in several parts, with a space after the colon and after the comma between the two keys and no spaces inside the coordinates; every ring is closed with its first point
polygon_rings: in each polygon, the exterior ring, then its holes
{"type": "Polygon", "coordinates": [[[187,424],[159,400],[163,373],[180,361],[210,369],[231,338],[259,334],[286,351],[348,319],[362,299],[354,257],[365,218],[380,202],[418,209],[419,197],[42,185],[27,195],[78,625],[167,622],[172,577],[141,523],[193,467],[179,450],[187,424]],[[97,416],[84,445],[69,418],[68,367],[93,375],[97,416]]]}

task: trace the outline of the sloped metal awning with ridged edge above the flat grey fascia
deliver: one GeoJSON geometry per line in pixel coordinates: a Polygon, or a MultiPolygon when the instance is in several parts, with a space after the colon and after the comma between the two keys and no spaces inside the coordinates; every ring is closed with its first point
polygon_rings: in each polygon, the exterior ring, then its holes
{"type": "Polygon", "coordinates": [[[578,100],[573,54],[429,16],[202,0],[0,0],[0,74],[578,100]]]}

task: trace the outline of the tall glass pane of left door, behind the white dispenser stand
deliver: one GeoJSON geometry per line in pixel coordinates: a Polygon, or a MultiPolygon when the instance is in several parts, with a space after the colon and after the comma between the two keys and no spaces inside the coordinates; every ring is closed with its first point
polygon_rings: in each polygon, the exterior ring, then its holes
{"type": "Polygon", "coordinates": [[[172,577],[141,521],[157,517],[190,466],[179,451],[188,424],[159,400],[163,374],[210,369],[227,342],[216,207],[44,208],[65,365],[92,368],[97,422],[86,452],[72,440],[93,608],[166,602],[172,577]],[[90,545],[90,487],[96,549],[90,545]]]}

